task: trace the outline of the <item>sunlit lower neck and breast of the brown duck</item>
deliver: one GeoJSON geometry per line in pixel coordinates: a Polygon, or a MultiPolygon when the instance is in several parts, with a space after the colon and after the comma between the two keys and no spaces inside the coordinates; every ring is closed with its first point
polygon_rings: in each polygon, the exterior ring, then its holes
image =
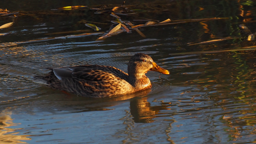
{"type": "Polygon", "coordinates": [[[135,90],[143,90],[146,88],[151,88],[151,83],[148,77],[146,77],[145,74],[140,74],[140,75],[134,75],[134,74],[129,74],[129,79],[128,82],[131,84],[135,90]]]}

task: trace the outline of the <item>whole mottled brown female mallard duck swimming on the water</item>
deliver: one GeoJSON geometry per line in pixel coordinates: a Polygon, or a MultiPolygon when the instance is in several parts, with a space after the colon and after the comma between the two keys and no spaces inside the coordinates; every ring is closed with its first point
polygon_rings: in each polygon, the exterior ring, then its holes
{"type": "Polygon", "coordinates": [[[128,74],[115,67],[101,65],[48,69],[51,72],[46,76],[34,76],[34,82],[87,97],[127,94],[151,88],[150,80],[145,75],[147,71],[170,74],[143,53],[131,57],[128,74]]]}

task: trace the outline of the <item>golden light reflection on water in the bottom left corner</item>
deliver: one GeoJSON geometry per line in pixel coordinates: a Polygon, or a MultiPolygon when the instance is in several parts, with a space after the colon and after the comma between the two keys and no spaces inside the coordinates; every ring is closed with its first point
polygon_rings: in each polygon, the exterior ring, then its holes
{"type": "MultiPolygon", "coordinates": [[[[3,113],[4,111],[2,111],[3,113]]],[[[8,128],[10,126],[17,126],[19,124],[13,123],[13,119],[11,118],[12,112],[7,112],[0,114],[0,143],[1,144],[15,144],[15,143],[26,143],[23,141],[31,140],[31,138],[27,138],[28,135],[18,135],[19,132],[15,132],[16,130],[22,128],[8,128]]]]}

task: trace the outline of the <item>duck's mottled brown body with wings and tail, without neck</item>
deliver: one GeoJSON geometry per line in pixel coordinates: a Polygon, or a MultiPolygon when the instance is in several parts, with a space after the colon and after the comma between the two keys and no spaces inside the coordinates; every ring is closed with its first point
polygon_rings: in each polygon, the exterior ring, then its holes
{"type": "Polygon", "coordinates": [[[128,74],[110,66],[82,65],[51,70],[46,76],[33,80],[50,88],[65,90],[88,97],[104,97],[133,91],[128,74]]]}

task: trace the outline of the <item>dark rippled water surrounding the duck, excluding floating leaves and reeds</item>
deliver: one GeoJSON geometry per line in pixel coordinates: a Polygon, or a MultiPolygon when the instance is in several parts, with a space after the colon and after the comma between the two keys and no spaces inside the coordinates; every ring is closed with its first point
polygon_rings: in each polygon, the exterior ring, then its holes
{"type": "MultiPolygon", "coordinates": [[[[122,1],[1,2],[20,14],[0,29],[0,143],[255,143],[255,41],[247,40],[256,31],[255,2],[128,0],[127,10],[146,10],[119,15],[134,25],[143,18],[226,19],[147,26],[140,28],[145,38],[134,30],[99,41],[103,34],[81,21],[105,23],[96,25],[106,33],[115,18],[89,9],[122,1]],[[90,7],[51,10],[71,5],[90,7]],[[76,30],[95,34],[51,34],[76,30]],[[199,44],[216,39],[222,40],[199,44]],[[127,71],[137,52],[170,71],[149,72],[151,90],[93,99],[31,81],[48,73],[45,67],[100,64],[127,71]]],[[[0,15],[0,25],[12,20],[0,15]]]]}

